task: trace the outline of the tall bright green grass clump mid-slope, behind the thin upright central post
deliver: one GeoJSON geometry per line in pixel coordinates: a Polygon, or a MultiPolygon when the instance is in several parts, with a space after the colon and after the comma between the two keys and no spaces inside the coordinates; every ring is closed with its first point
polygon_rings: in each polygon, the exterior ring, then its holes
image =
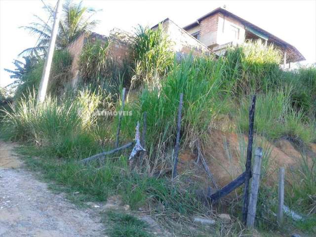
{"type": "Polygon", "coordinates": [[[127,105],[133,116],[123,118],[122,132],[126,136],[134,136],[135,124],[147,112],[146,144],[152,166],[171,161],[165,156],[174,144],[181,93],[184,101],[182,141],[188,145],[197,139],[203,140],[219,106],[222,73],[221,60],[213,61],[208,57],[192,59],[189,56],[180,63],[174,61],[173,70],[161,81],[160,88],[145,87],[139,101],[127,105]]]}

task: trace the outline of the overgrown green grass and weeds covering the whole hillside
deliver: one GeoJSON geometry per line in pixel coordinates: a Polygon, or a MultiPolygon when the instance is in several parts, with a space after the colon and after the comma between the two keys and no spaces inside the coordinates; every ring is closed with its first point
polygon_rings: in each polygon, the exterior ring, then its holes
{"type": "MultiPolygon", "coordinates": [[[[104,201],[119,194],[133,210],[143,207],[159,214],[160,223],[178,235],[204,236],[210,232],[192,223],[194,215],[214,218],[216,212],[215,205],[197,197],[196,190],[201,185],[197,184],[194,171],[170,179],[181,93],[184,95],[181,149],[197,156],[205,155],[205,147],[210,146],[209,132],[217,128],[214,124],[222,116],[229,117],[227,122],[234,124],[231,127],[235,132],[247,133],[253,93],[257,94],[255,132],[262,139],[273,142],[285,138],[302,149],[316,141],[315,67],[282,71],[280,52],[260,40],[232,47],[224,57],[187,55],[179,59],[170,51],[172,42],[160,25],[154,30],[139,27],[131,42],[134,71],[129,78],[131,85],[125,83],[122,71],[114,66],[109,52],[111,41],[88,41],[80,56],[82,83],[77,91],[65,93],[59,99],[60,88],[69,81],[72,60],[66,52],[57,51],[51,95],[45,102],[38,104],[36,92],[28,93],[38,88],[43,67],[43,60],[39,60],[21,77],[23,83],[16,91],[15,104],[2,112],[5,114],[2,131],[7,139],[27,144],[22,152],[30,156],[26,158],[30,167],[40,168],[45,178],[69,190],[79,191],[81,200],[104,201]],[[137,121],[142,124],[146,112],[146,155],[132,171],[127,160],[129,150],[105,161],[81,165],[79,159],[113,148],[118,118],[97,118],[94,112],[120,110],[122,105],[115,100],[121,97],[118,92],[123,85],[130,85],[124,111],[132,111],[132,116],[122,119],[120,143],[134,139],[137,121]],[[136,89],[133,98],[132,89],[136,89]]],[[[245,144],[244,141],[244,148],[245,144]]],[[[276,190],[267,185],[272,175],[267,167],[271,147],[260,145],[265,150],[256,225],[263,230],[275,230],[278,227],[272,220],[276,190]]],[[[240,162],[244,155],[240,149],[240,162]]],[[[286,190],[288,205],[306,215],[309,224],[299,226],[288,222],[309,233],[314,231],[316,208],[313,156],[309,153],[303,156],[302,165],[293,170],[298,182],[286,190]]],[[[238,191],[236,195],[230,205],[235,208],[231,213],[238,218],[238,191]]],[[[149,236],[143,231],[143,223],[131,216],[112,213],[109,218],[114,222],[111,236],[149,236]]],[[[242,229],[237,224],[223,224],[215,225],[211,231],[217,236],[236,236],[241,235],[242,229]]]]}

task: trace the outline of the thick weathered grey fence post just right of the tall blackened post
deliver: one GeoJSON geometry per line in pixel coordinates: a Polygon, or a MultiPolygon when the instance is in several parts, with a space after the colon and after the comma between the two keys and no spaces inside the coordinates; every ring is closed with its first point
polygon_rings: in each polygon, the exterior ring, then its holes
{"type": "Polygon", "coordinates": [[[251,192],[250,192],[250,197],[249,197],[249,206],[248,206],[248,213],[247,213],[247,225],[246,225],[247,228],[253,228],[254,222],[255,222],[259,181],[260,181],[260,171],[261,171],[261,160],[262,160],[262,148],[258,147],[255,151],[255,160],[253,164],[251,192]]]}

